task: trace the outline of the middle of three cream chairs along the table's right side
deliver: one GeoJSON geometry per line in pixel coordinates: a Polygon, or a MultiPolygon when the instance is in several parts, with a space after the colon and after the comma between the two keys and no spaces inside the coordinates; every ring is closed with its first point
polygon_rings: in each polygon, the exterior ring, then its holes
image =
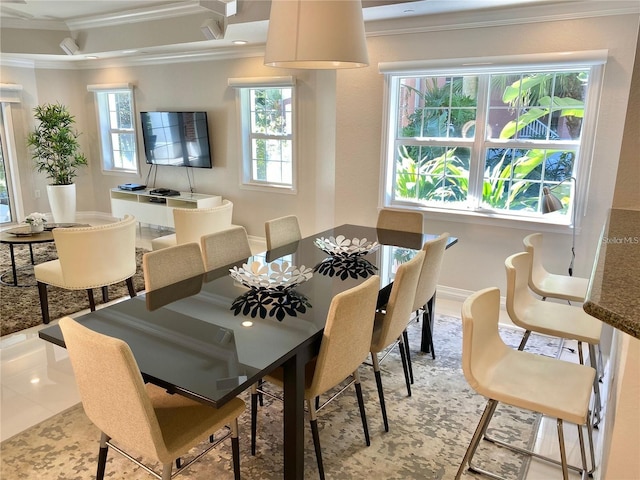
{"type": "Polygon", "coordinates": [[[405,331],[411,317],[411,312],[413,311],[413,300],[416,295],[416,288],[418,286],[418,279],[420,278],[420,269],[424,263],[424,257],[425,253],[420,251],[411,260],[398,267],[386,310],[384,312],[376,312],[375,314],[375,324],[370,348],[371,360],[373,361],[373,371],[378,387],[382,420],[384,422],[384,429],[387,432],[389,431],[389,422],[387,420],[387,409],[384,402],[378,354],[396,343],[399,345],[404,378],[407,384],[407,394],[411,396],[410,359],[407,356],[408,346],[405,345],[407,338],[405,331]]]}

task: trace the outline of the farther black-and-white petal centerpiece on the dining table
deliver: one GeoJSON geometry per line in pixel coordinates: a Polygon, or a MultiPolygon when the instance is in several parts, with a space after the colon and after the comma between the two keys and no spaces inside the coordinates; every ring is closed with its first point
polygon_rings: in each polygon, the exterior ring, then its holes
{"type": "Polygon", "coordinates": [[[316,238],[315,245],[330,255],[314,268],[322,275],[346,280],[349,277],[367,278],[376,273],[377,267],[363,257],[375,251],[380,246],[378,242],[338,235],[316,238]]]}

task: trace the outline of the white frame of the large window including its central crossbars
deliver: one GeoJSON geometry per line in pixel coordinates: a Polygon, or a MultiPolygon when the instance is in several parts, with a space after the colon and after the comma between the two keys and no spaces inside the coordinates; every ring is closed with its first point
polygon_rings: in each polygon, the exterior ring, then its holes
{"type": "MultiPolygon", "coordinates": [[[[403,208],[431,212],[442,219],[456,220],[462,222],[487,222],[495,225],[504,225],[505,221],[513,221],[514,225],[522,222],[536,224],[548,224],[559,226],[570,226],[573,224],[573,211],[576,209],[576,224],[579,226],[579,219],[586,211],[587,195],[585,192],[589,185],[589,173],[593,161],[593,145],[595,129],[598,116],[598,106],[602,81],[604,77],[604,67],[608,52],[606,50],[585,51],[585,52],[561,52],[550,54],[533,55],[513,55],[502,57],[484,57],[472,59],[452,59],[434,61],[409,61],[380,63],[379,71],[384,75],[384,98],[383,98],[383,146],[381,158],[381,185],[380,185],[380,206],[403,208]],[[510,74],[516,72],[533,73],[536,71],[554,70],[575,71],[579,69],[590,70],[589,88],[584,99],[585,116],[582,122],[581,137],[578,140],[578,152],[575,159],[575,167],[572,172],[573,181],[565,180],[563,183],[571,185],[572,201],[569,209],[564,214],[546,214],[537,212],[520,212],[517,210],[494,210],[482,206],[482,185],[485,168],[485,157],[487,149],[491,147],[503,148],[505,143],[514,145],[514,140],[500,141],[498,139],[485,138],[484,132],[478,132],[477,138],[467,140],[464,138],[430,138],[429,146],[441,144],[442,146],[464,146],[471,149],[471,160],[469,168],[469,187],[467,192],[467,205],[465,208],[452,208],[444,205],[426,205],[420,202],[407,201],[406,199],[396,199],[395,192],[395,162],[397,157],[398,137],[396,135],[398,119],[398,92],[400,80],[412,76],[463,76],[476,75],[479,77],[479,84],[483,83],[484,90],[478,87],[477,109],[481,108],[489,114],[487,95],[489,93],[488,80],[492,74],[510,74]],[[482,104],[482,105],[481,105],[482,104]]],[[[480,113],[476,119],[481,119],[480,113]]],[[[419,142],[418,142],[419,143],[419,142]]],[[[540,142],[527,142],[527,148],[535,148],[540,142]]],[[[426,144],[425,144],[426,145],[426,144]]],[[[575,147],[575,141],[554,143],[551,148],[561,148],[570,145],[575,147]]],[[[516,147],[514,147],[516,148],[516,147]]],[[[547,145],[545,148],[550,148],[547,145]]]]}

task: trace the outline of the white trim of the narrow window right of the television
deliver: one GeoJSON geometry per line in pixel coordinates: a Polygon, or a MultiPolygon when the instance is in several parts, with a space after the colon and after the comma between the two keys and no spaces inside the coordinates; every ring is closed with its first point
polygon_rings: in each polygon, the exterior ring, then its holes
{"type": "Polygon", "coordinates": [[[298,192],[298,154],[297,154],[297,106],[296,106],[296,80],[293,76],[278,76],[278,77],[246,77],[246,78],[229,78],[227,84],[231,88],[236,89],[236,112],[238,116],[238,145],[239,156],[241,158],[239,164],[239,188],[246,190],[262,191],[262,192],[278,192],[284,194],[295,195],[298,192]],[[277,184],[265,184],[255,183],[251,181],[251,146],[247,145],[247,139],[244,138],[244,132],[249,130],[249,118],[244,115],[244,103],[243,95],[248,94],[250,88],[291,88],[291,102],[292,102],[292,121],[293,121],[293,133],[291,141],[293,144],[293,150],[291,152],[291,186],[289,185],[277,185],[277,184]]]}

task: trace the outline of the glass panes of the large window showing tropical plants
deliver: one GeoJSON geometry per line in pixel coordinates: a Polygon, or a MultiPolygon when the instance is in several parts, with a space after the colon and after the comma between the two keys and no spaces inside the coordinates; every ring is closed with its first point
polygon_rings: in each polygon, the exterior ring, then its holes
{"type": "Polygon", "coordinates": [[[487,63],[387,73],[385,205],[569,223],[601,62],[487,63]],[[545,187],[560,220],[542,217],[545,187]]]}

